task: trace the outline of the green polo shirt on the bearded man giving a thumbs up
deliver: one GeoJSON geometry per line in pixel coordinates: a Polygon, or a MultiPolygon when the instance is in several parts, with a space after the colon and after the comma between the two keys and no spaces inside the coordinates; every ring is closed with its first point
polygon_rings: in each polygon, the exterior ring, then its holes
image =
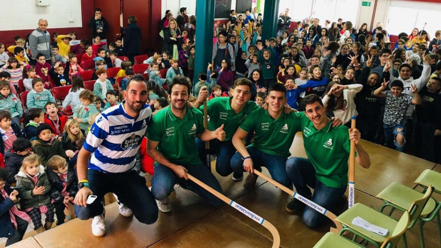
{"type": "Polygon", "coordinates": [[[203,114],[196,108],[187,108],[181,120],[173,115],[171,107],[159,111],[148,126],[147,138],[159,142],[158,150],[177,165],[199,165],[196,134],[205,131],[203,114]]]}

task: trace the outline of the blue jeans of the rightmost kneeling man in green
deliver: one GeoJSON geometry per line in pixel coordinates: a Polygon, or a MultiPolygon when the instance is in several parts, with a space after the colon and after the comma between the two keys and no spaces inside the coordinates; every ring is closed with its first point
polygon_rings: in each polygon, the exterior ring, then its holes
{"type": "MultiPolygon", "coordinates": [[[[316,170],[307,158],[292,157],[288,159],[286,172],[298,194],[326,209],[334,207],[346,192],[347,185],[341,188],[331,188],[317,180],[316,170]],[[314,195],[311,194],[308,186],[314,189],[314,195]]],[[[303,222],[311,228],[319,226],[326,219],[326,216],[310,207],[306,207],[303,211],[303,222]]]]}

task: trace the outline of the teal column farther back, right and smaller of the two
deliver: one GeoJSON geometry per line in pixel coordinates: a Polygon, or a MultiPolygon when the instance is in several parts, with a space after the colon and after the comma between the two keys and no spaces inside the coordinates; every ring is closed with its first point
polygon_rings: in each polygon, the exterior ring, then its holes
{"type": "Polygon", "coordinates": [[[268,40],[271,37],[276,36],[277,32],[277,20],[279,18],[279,2],[280,0],[266,0],[264,13],[265,19],[262,27],[262,40],[268,40]]]}

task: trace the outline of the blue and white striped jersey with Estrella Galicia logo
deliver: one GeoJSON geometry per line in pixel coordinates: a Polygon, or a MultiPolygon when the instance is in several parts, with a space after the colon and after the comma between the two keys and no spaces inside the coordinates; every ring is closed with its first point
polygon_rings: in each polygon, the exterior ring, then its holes
{"type": "Polygon", "coordinates": [[[151,120],[151,108],[145,104],[135,119],[125,112],[124,103],[106,109],[95,119],[83,144],[93,153],[90,170],[122,173],[135,167],[135,156],[151,120]]]}

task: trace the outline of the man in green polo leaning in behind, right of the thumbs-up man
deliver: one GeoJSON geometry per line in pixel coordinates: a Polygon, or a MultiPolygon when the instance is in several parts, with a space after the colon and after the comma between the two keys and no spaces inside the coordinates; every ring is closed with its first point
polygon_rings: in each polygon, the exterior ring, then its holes
{"type": "MultiPolygon", "coordinates": [[[[236,149],[233,143],[231,143],[231,138],[233,138],[234,133],[244,121],[245,117],[259,107],[255,102],[249,101],[251,97],[251,87],[252,84],[250,80],[246,78],[236,79],[232,97],[213,98],[207,102],[208,116],[210,116],[208,129],[216,130],[223,124],[223,130],[226,133],[224,141],[210,141],[209,153],[216,155],[216,172],[221,176],[228,176],[233,172],[230,166],[230,160],[236,152],[236,149]]],[[[202,88],[193,107],[199,107],[199,109],[203,111],[203,105],[201,106],[201,104],[207,97],[208,91],[202,88]]],[[[205,142],[196,139],[196,145],[199,158],[204,161],[207,156],[205,142]]],[[[234,181],[240,181],[243,177],[242,172],[233,174],[234,181]]]]}

